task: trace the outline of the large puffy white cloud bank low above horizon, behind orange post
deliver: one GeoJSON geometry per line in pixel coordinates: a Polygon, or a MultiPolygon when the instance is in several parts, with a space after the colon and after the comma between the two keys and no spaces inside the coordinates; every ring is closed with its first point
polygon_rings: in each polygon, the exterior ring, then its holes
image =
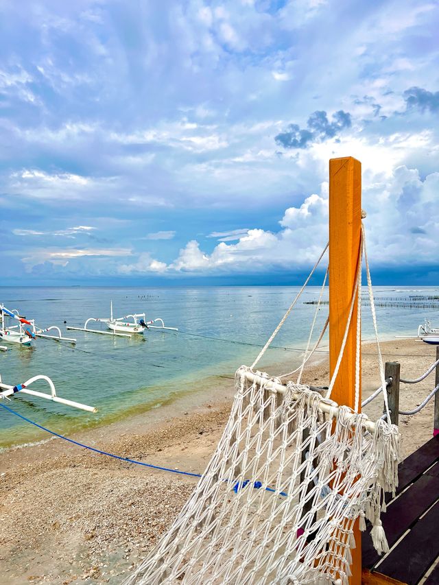
{"type": "MultiPolygon", "coordinates": [[[[439,173],[420,177],[417,169],[401,166],[388,178],[379,178],[364,187],[364,220],[368,239],[368,255],[375,267],[412,263],[429,265],[439,256],[439,173]],[[419,222],[423,222],[419,224],[419,222]]],[[[328,237],[327,182],[320,193],[309,195],[302,204],[285,210],[279,220],[281,229],[260,228],[235,234],[236,243],[220,241],[212,252],[206,252],[192,239],[180,249],[169,264],[141,254],[139,262],[124,266],[121,272],[161,272],[172,274],[236,274],[297,270],[316,261],[328,237]],[[156,263],[156,264],[154,264],[156,263]]],[[[239,230],[232,230],[239,232],[239,230]]],[[[213,237],[230,232],[213,232],[213,237]]],[[[225,236],[227,237],[227,236],[225,236]]]]}

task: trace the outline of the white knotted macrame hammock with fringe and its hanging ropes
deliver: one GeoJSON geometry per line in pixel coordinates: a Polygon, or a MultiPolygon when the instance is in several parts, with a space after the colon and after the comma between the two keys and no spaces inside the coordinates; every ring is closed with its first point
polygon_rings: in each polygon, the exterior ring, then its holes
{"type": "MultiPolygon", "coordinates": [[[[370,285],[367,256],[366,268],[370,285]]],[[[300,374],[307,359],[305,353],[300,374]]],[[[388,550],[379,517],[383,492],[397,486],[397,427],[373,425],[307,385],[281,386],[246,366],[235,382],[230,418],[198,486],[125,584],[347,584],[356,518],[361,529],[368,518],[375,547],[388,550]]]]}

